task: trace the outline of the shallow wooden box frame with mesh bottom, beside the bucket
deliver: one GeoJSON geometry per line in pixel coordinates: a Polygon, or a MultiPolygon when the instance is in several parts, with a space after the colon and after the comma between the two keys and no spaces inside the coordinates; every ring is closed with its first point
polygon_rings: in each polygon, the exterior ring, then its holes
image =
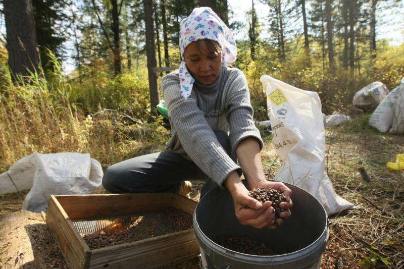
{"type": "Polygon", "coordinates": [[[70,268],[154,268],[199,254],[193,229],[90,249],[73,222],[109,219],[168,207],[193,214],[196,202],[175,193],[52,195],[46,223],[70,268]]]}

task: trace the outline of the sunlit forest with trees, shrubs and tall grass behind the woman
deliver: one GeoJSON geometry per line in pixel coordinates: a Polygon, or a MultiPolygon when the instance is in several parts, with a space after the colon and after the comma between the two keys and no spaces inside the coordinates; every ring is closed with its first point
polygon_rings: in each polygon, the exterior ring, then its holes
{"type": "Polygon", "coordinates": [[[227,0],[1,3],[0,172],[35,151],[88,152],[105,168],[164,148],[159,85],[179,65],[179,23],[197,6],[212,7],[238,37],[234,66],[257,121],[268,120],[263,74],[318,92],[327,115],[351,114],[360,88],[393,89],[404,74],[402,41],[378,36],[395,23],[402,40],[402,1],[253,0],[242,17],[227,0]],[[268,7],[264,17],[257,5],[268,7]]]}

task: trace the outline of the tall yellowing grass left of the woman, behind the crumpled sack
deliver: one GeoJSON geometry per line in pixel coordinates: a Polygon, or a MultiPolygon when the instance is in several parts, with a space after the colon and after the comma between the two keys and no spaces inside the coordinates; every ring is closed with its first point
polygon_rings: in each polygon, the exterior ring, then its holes
{"type": "Polygon", "coordinates": [[[120,111],[125,106],[133,110],[131,116],[147,114],[147,106],[142,106],[147,92],[145,87],[137,89],[131,83],[135,78],[110,81],[100,98],[108,94],[108,89],[122,90],[117,93],[120,102],[110,103],[112,109],[98,105],[94,110],[83,107],[80,101],[85,102],[85,89],[79,84],[73,84],[73,88],[51,56],[55,71],[46,74],[47,80],[43,71],[17,76],[15,82],[7,67],[0,72],[0,172],[33,152],[90,153],[106,167],[164,147],[169,132],[161,126],[160,118],[153,123],[143,119],[134,122],[120,111]],[[138,94],[143,98],[130,106],[128,100],[138,94]]]}

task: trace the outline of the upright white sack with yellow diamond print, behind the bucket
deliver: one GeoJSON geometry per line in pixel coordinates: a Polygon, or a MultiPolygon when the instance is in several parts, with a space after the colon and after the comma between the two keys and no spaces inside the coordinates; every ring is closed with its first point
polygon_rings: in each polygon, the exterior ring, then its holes
{"type": "MultiPolygon", "coordinates": [[[[317,92],[305,91],[264,75],[268,116],[282,167],[275,180],[315,196],[328,215],[354,207],[338,196],[325,167],[325,130],[317,92]]],[[[292,194],[293,199],[293,194],[292,194]]]]}

